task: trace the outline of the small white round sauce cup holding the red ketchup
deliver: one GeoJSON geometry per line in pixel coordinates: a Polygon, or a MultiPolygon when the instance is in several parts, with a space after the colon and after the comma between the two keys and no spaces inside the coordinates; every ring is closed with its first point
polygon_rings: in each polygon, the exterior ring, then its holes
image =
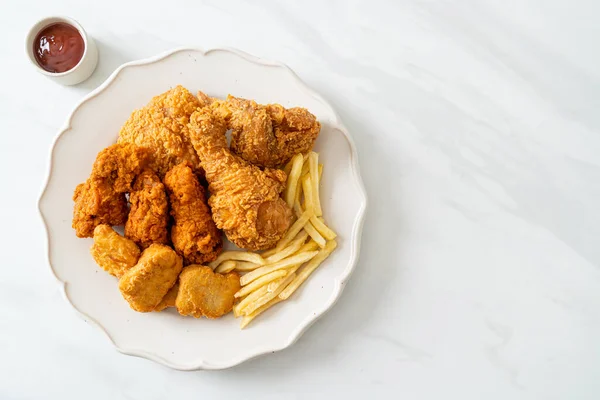
{"type": "Polygon", "coordinates": [[[81,27],[81,25],[79,25],[77,21],[69,17],[48,17],[38,21],[29,30],[25,46],[25,50],[27,51],[29,61],[31,61],[31,63],[37,69],[37,71],[62,85],[76,85],[80,82],[85,81],[87,78],[90,77],[90,75],[92,75],[92,73],[96,69],[96,65],[98,65],[98,49],[96,48],[96,43],[94,42],[94,39],[92,39],[91,36],[88,36],[88,34],[81,27]],[[79,34],[83,38],[83,56],[81,57],[81,60],[79,60],[79,63],[68,71],[48,72],[45,69],[43,69],[35,59],[35,55],[33,53],[33,41],[35,40],[38,33],[40,33],[44,28],[46,28],[49,25],[60,22],[71,25],[79,31],[79,34]]]}

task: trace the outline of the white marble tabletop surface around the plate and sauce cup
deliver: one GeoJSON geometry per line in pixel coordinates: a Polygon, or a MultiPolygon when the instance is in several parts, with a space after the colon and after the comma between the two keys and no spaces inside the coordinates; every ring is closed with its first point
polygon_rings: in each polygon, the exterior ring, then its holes
{"type": "Polygon", "coordinates": [[[600,3],[84,3],[2,3],[1,399],[600,397],[600,3]],[[27,64],[24,35],[50,14],[98,41],[78,87],[27,64]],[[336,307],[220,372],[114,351],[61,298],[36,213],[75,103],[182,45],[289,64],[337,107],[370,195],[336,307]]]}

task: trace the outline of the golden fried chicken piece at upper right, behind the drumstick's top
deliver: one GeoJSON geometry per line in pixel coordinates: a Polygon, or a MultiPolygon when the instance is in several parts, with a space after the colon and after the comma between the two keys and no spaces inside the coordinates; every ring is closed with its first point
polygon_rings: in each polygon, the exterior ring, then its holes
{"type": "Polygon", "coordinates": [[[305,108],[257,104],[229,95],[225,101],[198,97],[232,129],[231,151],[261,167],[277,167],[294,155],[310,151],[321,124],[305,108]]]}

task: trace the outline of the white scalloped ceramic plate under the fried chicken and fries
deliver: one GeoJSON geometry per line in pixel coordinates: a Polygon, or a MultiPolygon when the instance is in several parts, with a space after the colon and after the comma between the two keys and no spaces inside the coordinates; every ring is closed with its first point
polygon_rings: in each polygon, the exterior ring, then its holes
{"type": "Polygon", "coordinates": [[[356,149],[332,107],[286,66],[231,49],[179,49],[118,68],[71,113],[54,143],[39,209],[48,233],[48,258],[69,303],[95,323],[122,353],[181,369],[222,369],[282,350],[339,298],[358,259],[366,209],[356,149]],[[308,108],[323,128],[316,143],[325,164],[322,201],[339,246],[305,285],[245,330],[228,315],[219,320],[132,311],[117,281],[89,254],[91,239],[71,228],[75,186],[84,181],[98,151],[112,144],[138,107],[177,84],[212,96],[228,93],[308,108]]]}

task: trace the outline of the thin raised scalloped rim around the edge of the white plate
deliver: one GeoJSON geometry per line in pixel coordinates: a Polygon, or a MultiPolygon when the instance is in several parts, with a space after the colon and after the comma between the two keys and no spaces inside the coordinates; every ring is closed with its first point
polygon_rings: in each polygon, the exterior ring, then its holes
{"type": "Polygon", "coordinates": [[[340,119],[338,113],[331,106],[331,104],[329,104],[329,102],[327,102],[319,93],[317,93],[315,90],[311,89],[304,81],[302,81],[300,79],[300,77],[289,66],[287,66],[286,64],[279,62],[279,61],[272,61],[272,60],[267,60],[264,58],[256,57],[249,53],[246,53],[245,51],[242,51],[242,50],[239,50],[236,48],[232,48],[232,47],[214,47],[214,48],[210,48],[208,50],[204,50],[200,47],[177,47],[175,49],[171,49],[171,50],[159,53],[155,56],[130,61],[130,62],[120,65],[117,69],[115,69],[115,71],[113,71],[112,74],[110,74],[110,76],[108,78],[106,78],[106,80],[102,84],[100,84],[96,89],[92,90],[90,93],[88,93],[86,96],[84,96],[74,106],[74,108],[68,115],[66,122],[59,129],[58,133],[54,137],[54,140],[52,141],[52,144],[50,147],[50,157],[46,164],[46,175],[45,175],[45,178],[43,181],[41,193],[40,193],[40,195],[38,197],[38,201],[37,201],[37,212],[38,212],[39,217],[42,220],[43,227],[44,227],[44,233],[46,236],[46,240],[44,242],[45,242],[45,247],[46,247],[45,253],[46,253],[47,266],[49,267],[52,275],[54,276],[57,283],[59,284],[59,288],[60,288],[60,291],[61,291],[64,299],[71,306],[71,308],[76,312],[76,314],[83,320],[91,322],[97,329],[99,329],[101,332],[103,332],[104,335],[112,343],[113,347],[122,354],[145,358],[150,361],[154,361],[156,363],[162,364],[164,366],[167,366],[169,368],[173,368],[176,370],[194,371],[194,370],[218,370],[218,369],[231,368],[231,367],[239,365],[245,361],[256,358],[258,356],[284,350],[284,349],[290,347],[291,345],[293,345],[302,336],[302,334],[304,332],[306,332],[306,330],[308,328],[310,328],[310,326],[313,323],[315,323],[327,311],[329,311],[335,305],[335,303],[338,301],[338,299],[340,298],[342,291],[345,287],[345,283],[350,278],[353,270],[355,269],[355,267],[358,263],[358,259],[359,259],[359,255],[360,255],[360,243],[361,243],[361,238],[362,238],[362,228],[363,228],[363,224],[364,224],[364,220],[365,220],[367,204],[368,204],[367,193],[366,193],[366,190],[365,190],[365,187],[364,187],[361,175],[360,175],[358,152],[356,150],[356,145],[354,144],[354,140],[350,136],[347,128],[341,122],[341,119],[340,119]],[[54,270],[52,262],[51,262],[49,226],[48,226],[48,222],[46,221],[46,218],[44,216],[44,212],[42,210],[42,208],[43,208],[42,204],[44,201],[44,197],[47,193],[48,184],[50,183],[50,178],[52,176],[52,172],[54,169],[54,159],[55,159],[54,153],[56,150],[56,145],[57,145],[58,141],[60,140],[60,138],[62,137],[62,135],[71,129],[71,122],[72,122],[73,116],[77,113],[77,111],[85,103],[87,103],[92,98],[100,95],[105,89],[107,89],[111,84],[113,84],[116,81],[116,78],[118,77],[119,73],[122,70],[124,70],[126,68],[136,67],[136,66],[154,64],[154,63],[160,62],[163,59],[168,58],[176,53],[185,52],[185,51],[198,52],[198,53],[202,54],[203,57],[208,56],[212,52],[222,51],[222,52],[232,53],[238,57],[241,57],[242,59],[244,59],[246,61],[249,61],[249,62],[257,64],[257,65],[277,67],[277,68],[285,70],[288,73],[288,75],[290,75],[295,80],[296,84],[302,91],[304,91],[306,94],[308,94],[309,96],[313,97],[314,99],[316,99],[320,103],[322,103],[324,106],[326,106],[329,109],[329,111],[331,112],[331,115],[333,115],[334,120],[331,122],[332,128],[338,129],[340,132],[342,132],[345,139],[348,141],[348,144],[350,145],[350,165],[351,165],[351,169],[352,169],[352,175],[354,178],[354,183],[356,184],[358,192],[361,196],[360,207],[358,210],[358,214],[356,215],[356,218],[354,220],[354,224],[352,226],[352,233],[351,233],[351,237],[350,237],[350,245],[351,245],[350,246],[350,261],[346,265],[346,268],[342,272],[342,274],[339,275],[335,279],[334,292],[331,295],[330,300],[324,304],[324,307],[321,310],[319,310],[319,312],[314,313],[310,318],[307,318],[305,321],[300,323],[296,328],[294,328],[292,333],[290,334],[290,336],[287,338],[287,340],[283,344],[283,346],[273,346],[273,347],[269,347],[266,349],[260,348],[257,351],[250,353],[249,355],[233,359],[233,360],[231,360],[227,363],[221,364],[221,365],[215,365],[213,363],[209,363],[204,359],[195,361],[192,365],[181,365],[181,364],[166,360],[166,359],[164,359],[156,354],[153,354],[152,352],[147,351],[147,350],[134,349],[134,348],[123,348],[123,347],[119,346],[117,344],[117,342],[113,339],[111,334],[104,328],[104,326],[102,326],[98,321],[96,321],[90,315],[79,310],[75,306],[75,304],[73,304],[71,299],[69,299],[69,296],[68,296],[67,290],[66,290],[66,287],[69,284],[69,282],[62,281],[58,277],[58,275],[56,274],[56,272],[54,270]]]}

